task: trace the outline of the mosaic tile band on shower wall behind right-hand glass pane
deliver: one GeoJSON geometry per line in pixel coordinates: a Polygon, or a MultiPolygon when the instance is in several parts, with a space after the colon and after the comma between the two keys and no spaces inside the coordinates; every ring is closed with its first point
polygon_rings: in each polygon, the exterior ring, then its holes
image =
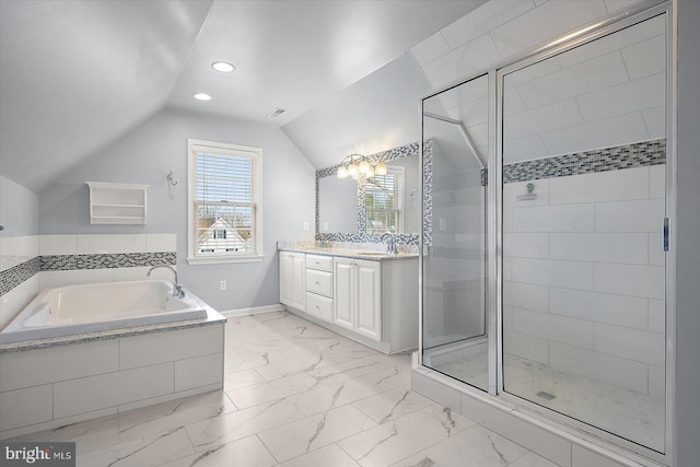
{"type": "Polygon", "coordinates": [[[666,163],[666,139],[574,152],[503,165],[503,183],[565,177],[666,163]]]}

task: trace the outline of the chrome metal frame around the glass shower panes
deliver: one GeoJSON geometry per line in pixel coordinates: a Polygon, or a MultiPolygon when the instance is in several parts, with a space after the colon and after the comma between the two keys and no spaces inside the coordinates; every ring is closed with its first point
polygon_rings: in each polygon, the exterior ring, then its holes
{"type": "MultiPolygon", "coordinates": [[[[642,0],[637,4],[622,9],[602,21],[586,24],[571,33],[556,37],[528,51],[515,57],[502,60],[487,69],[471,73],[464,79],[456,80],[428,95],[420,101],[419,118],[421,118],[421,147],[420,164],[423,166],[424,131],[423,102],[448,89],[488,74],[489,91],[489,154],[488,154],[488,191],[487,191],[487,238],[488,238],[488,353],[489,353],[489,384],[488,394],[468,384],[462,383],[423,365],[423,233],[421,229],[420,261],[419,261],[419,350],[417,361],[420,369],[434,375],[435,380],[458,388],[462,393],[481,399],[495,401],[510,409],[520,411],[534,421],[553,425],[563,433],[568,433],[576,440],[583,440],[594,446],[599,446],[622,457],[640,463],[648,459],[673,465],[675,454],[675,348],[676,348],[676,95],[677,95],[677,43],[676,43],[676,9],[677,0],[642,0]],[[530,402],[503,388],[503,77],[510,72],[525,68],[555,55],[561,54],[573,47],[590,43],[605,35],[629,27],[633,24],[649,20],[653,16],[665,14],[666,19],[666,217],[669,223],[669,244],[666,252],[666,413],[665,413],[665,450],[663,453],[642,446],[638,443],[611,434],[588,423],[574,420],[571,417],[558,413],[551,409],[530,402]]],[[[421,197],[424,192],[423,178],[421,177],[421,197]]],[[[424,218],[425,213],[422,213],[424,218]]]]}

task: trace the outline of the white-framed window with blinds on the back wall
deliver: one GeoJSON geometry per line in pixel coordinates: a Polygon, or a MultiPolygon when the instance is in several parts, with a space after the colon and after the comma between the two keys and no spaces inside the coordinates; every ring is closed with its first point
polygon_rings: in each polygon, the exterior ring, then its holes
{"type": "Polygon", "coordinates": [[[262,150],[188,140],[190,264],[262,259],[262,150]]]}

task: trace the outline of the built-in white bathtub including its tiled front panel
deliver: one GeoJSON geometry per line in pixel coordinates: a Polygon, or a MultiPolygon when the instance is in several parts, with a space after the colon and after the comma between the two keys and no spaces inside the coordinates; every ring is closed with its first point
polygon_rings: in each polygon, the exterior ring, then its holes
{"type": "Polygon", "coordinates": [[[226,318],[184,291],[173,296],[166,281],[42,291],[0,332],[0,440],[221,390],[226,318]]]}

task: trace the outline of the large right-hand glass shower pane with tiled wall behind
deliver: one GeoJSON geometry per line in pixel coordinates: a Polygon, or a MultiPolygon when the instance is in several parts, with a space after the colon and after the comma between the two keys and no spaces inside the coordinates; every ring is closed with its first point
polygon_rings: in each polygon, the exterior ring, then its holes
{"type": "Polygon", "coordinates": [[[500,74],[503,390],[658,452],[666,21],[500,74]]]}

